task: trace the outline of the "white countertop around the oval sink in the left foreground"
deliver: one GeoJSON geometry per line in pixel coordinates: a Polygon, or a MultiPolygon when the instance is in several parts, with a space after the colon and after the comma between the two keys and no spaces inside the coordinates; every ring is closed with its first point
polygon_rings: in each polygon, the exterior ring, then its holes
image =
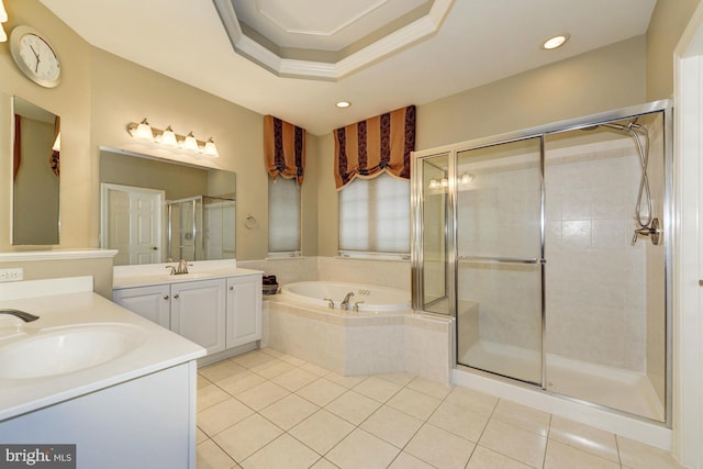
{"type": "Polygon", "coordinates": [[[40,316],[37,321],[24,323],[14,316],[0,315],[0,353],[3,344],[16,340],[22,334],[30,337],[42,330],[82,324],[104,326],[119,323],[136,327],[141,343],[119,358],[92,368],[48,377],[0,379],[0,421],[205,355],[201,346],[92,291],[65,288],[63,290],[68,293],[56,293],[64,284],[64,279],[60,280],[14,282],[14,289],[12,284],[0,284],[0,309],[16,309],[40,316]],[[47,293],[47,290],[42,290],[46,284],[54,291],[47,293]],[[23,295],[18,291],[32,291],[32,298],[18,298],[23,295]]]}

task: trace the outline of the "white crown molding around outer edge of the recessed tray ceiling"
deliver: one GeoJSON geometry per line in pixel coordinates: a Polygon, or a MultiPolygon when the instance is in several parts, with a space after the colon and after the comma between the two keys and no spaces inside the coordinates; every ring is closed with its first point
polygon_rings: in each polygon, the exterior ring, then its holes
{"type": "Polygon", "coordinates": [[[283,58],[243,32],[231,0],[213,3],[235,53],[279,77],[336,81],[437,33],[454,1],[435,0],[426,15],[336,63],[283,58]]]}

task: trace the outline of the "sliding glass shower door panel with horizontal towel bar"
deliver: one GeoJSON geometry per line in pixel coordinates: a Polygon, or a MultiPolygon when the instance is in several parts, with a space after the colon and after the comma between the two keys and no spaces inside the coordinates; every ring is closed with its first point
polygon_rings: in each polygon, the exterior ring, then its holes
{"type": "Polygon", "coordinates": [[[543,384],[542,138],[457,152],[457,362],[543,384]]]}

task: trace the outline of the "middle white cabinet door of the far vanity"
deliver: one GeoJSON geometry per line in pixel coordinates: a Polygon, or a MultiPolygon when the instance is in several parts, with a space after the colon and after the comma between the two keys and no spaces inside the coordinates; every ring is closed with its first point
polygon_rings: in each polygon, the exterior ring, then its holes
{"type": "Polygon", "coordinates": [[[225,348],[224,324],[224,279],[171,284],[171,331],[214,354],[225,348]]]}

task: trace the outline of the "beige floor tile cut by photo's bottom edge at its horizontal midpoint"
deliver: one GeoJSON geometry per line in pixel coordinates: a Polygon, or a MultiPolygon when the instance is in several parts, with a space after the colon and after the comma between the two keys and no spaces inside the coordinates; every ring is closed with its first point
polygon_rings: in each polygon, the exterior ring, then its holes
{"type": "Polygon", "coordinates": [[[342,469],[387,468],[400,449],[360,428],[352,432],[325,457],[342,469]]]}

